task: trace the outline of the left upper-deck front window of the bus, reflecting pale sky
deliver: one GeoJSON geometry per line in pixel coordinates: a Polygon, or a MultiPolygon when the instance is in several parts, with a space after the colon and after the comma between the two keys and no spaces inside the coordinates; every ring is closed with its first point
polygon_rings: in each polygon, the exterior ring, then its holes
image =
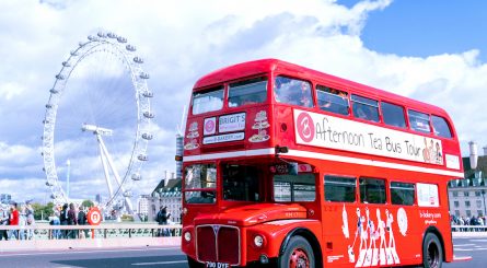
{"type": "Polygon", "coordinates": [[[193,94],[193,114],[199,115],[223,107],[223,86],[217,86],[193,94]]]}

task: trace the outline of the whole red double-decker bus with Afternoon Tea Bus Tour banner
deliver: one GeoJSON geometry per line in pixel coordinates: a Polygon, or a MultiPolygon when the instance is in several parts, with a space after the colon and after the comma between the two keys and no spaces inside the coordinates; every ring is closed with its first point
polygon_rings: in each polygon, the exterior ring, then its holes
{"type": "Polygon", "coordinates": [[[205,75],[184,137],[189,267],[441,267],[463,177],[433,105],[264,59],[205,75]]]}

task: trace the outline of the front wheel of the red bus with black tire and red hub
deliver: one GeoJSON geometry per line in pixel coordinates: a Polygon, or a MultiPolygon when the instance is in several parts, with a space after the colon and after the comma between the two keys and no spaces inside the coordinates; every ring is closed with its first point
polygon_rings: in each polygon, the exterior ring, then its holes
{"type": "Polygon", "coordinates": [[[314,268],[313,248],[303,236],[292,236],[277,263],[279,268],[314,268]]]}

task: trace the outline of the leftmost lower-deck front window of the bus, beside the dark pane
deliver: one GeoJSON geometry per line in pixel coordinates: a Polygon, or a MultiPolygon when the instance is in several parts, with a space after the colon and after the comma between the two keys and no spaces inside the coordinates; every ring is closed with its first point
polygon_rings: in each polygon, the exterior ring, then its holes
{"type": "Polygon", "coordinates": [[[187,203],[216,201],[217,167],[214,164],[190,165],[185,170],[185,200],[187,203]]]}

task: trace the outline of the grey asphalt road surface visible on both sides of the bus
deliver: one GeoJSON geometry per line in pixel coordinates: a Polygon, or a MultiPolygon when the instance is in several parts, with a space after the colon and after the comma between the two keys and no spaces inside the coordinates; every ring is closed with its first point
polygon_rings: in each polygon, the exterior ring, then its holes
{"type": "MultiPolygon", "coordinates": [[[[453,242],[456,256],[472,256],[473,260],[444,264],[443,267],[487,267],[487,238],[454,238],[453,242]]],[[[0,267],[187,268],[187,263],[179,247],[138,247],[123,249],[3,253],[0,254],[0,267]]]]}

